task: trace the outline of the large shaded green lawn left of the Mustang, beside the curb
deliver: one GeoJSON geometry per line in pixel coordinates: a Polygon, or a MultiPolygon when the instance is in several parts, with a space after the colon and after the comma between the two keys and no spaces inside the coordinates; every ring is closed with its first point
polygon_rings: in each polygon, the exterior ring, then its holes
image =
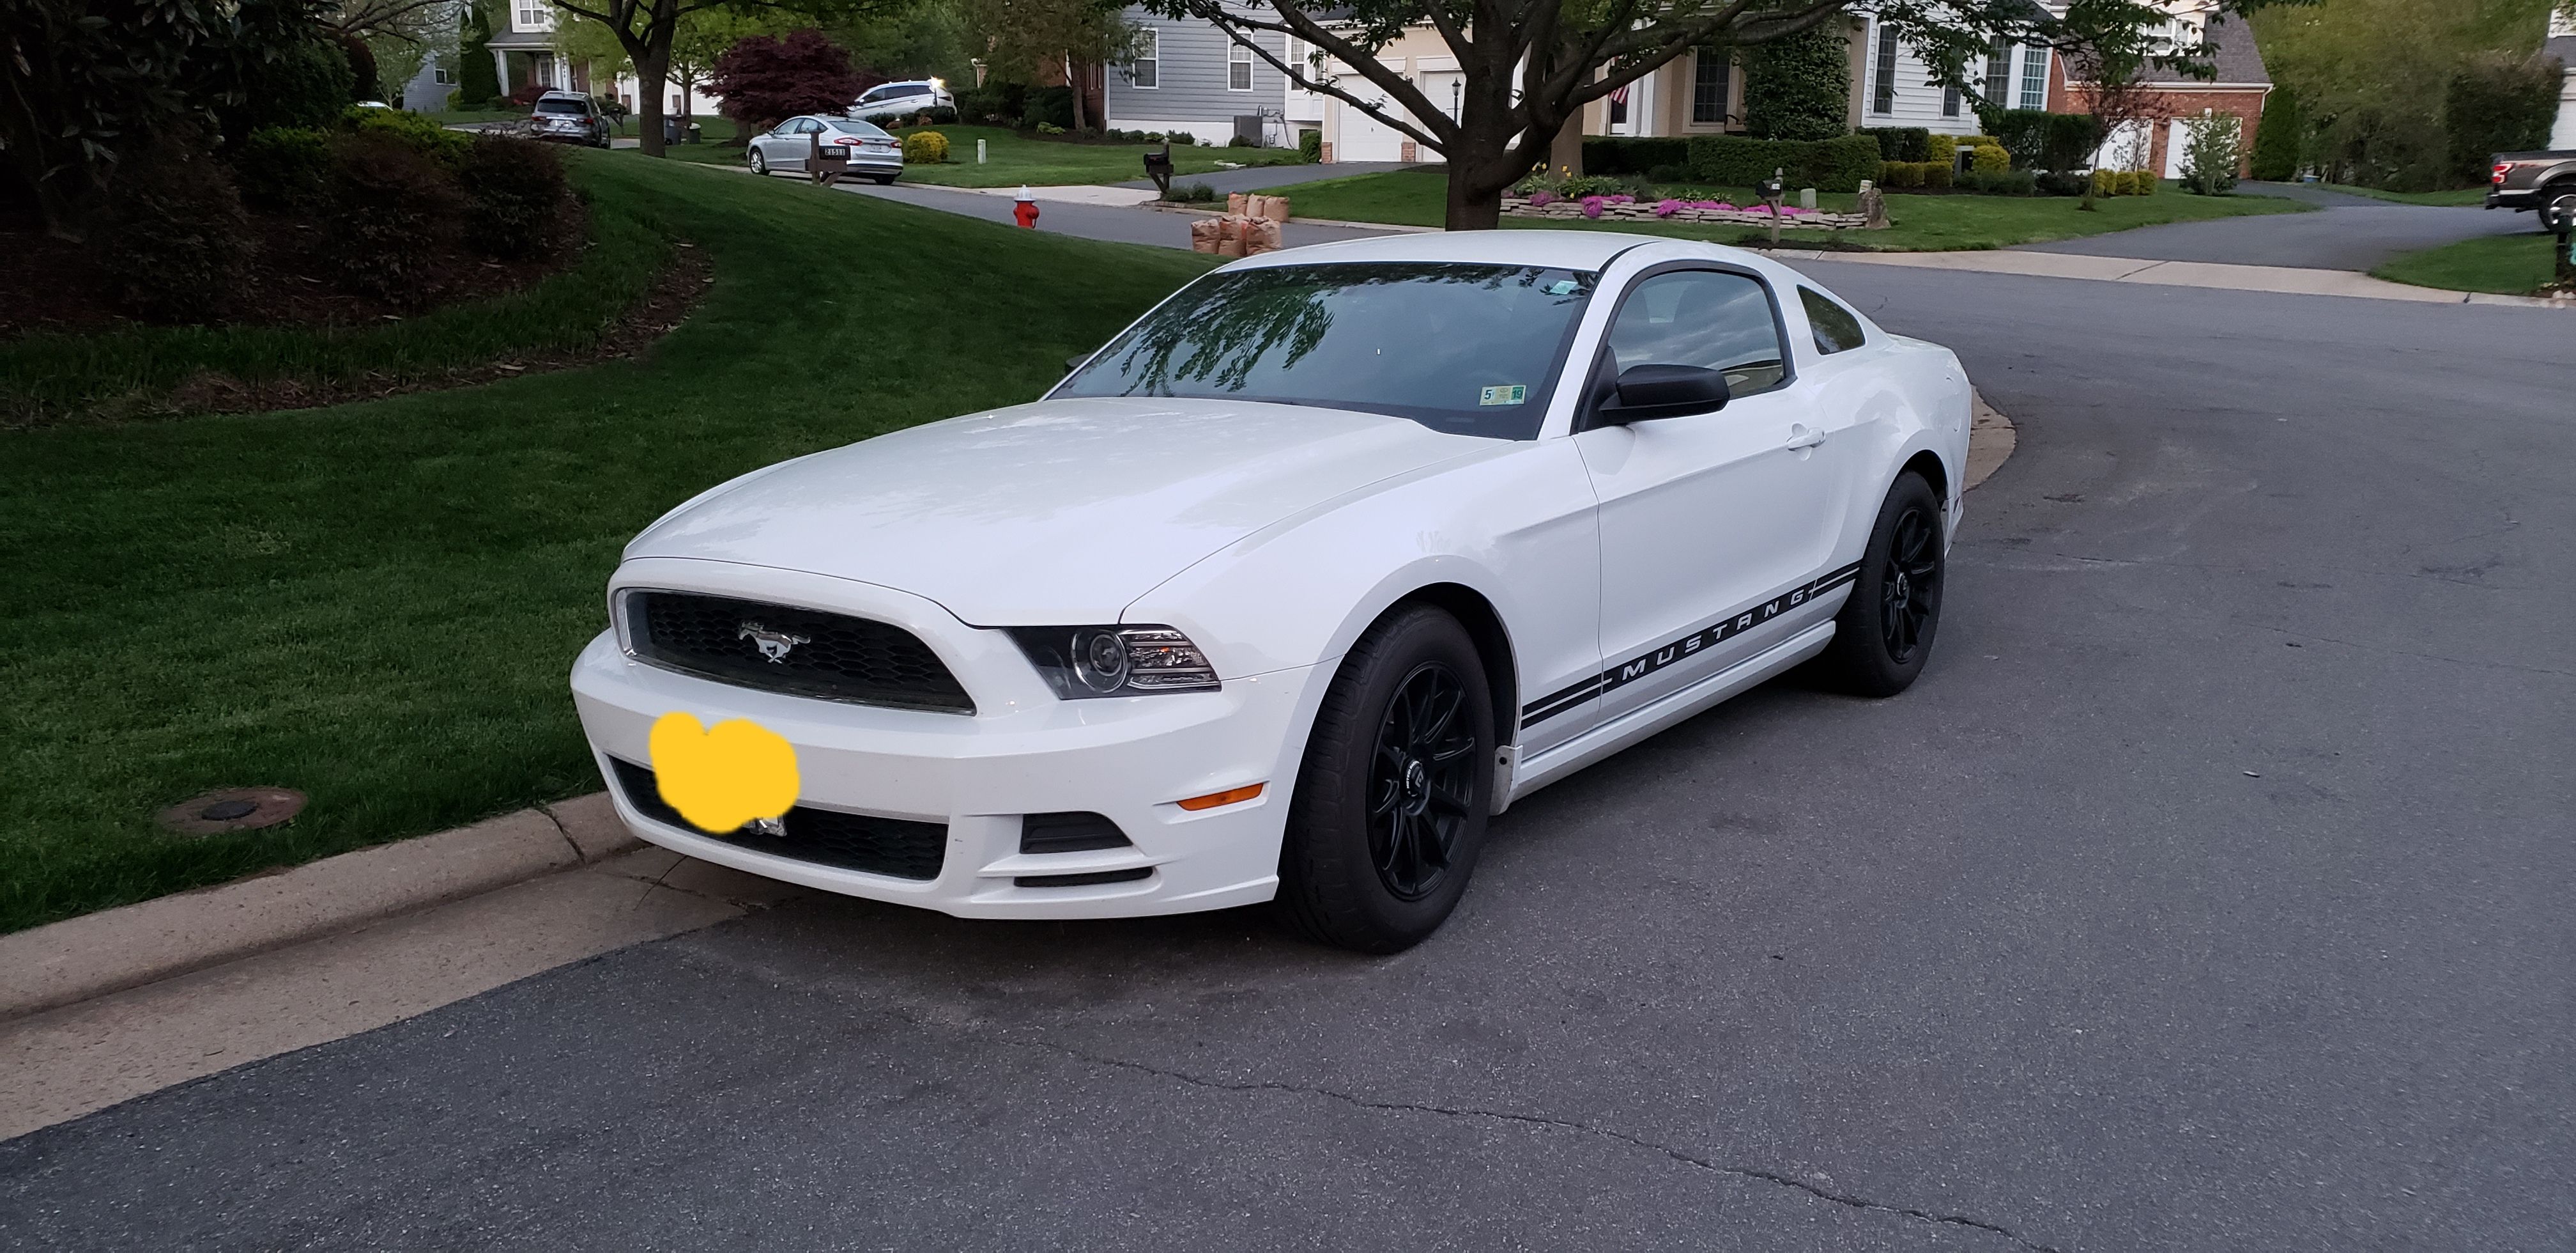
{"type": "Polygon", "coordinates": [[[714,260],[641,358],[0,431],[0,931],[598,789],[564,673],[626,539],[739,472],[1028,400],[1216,260],[611,152],[572,165],[603,211],[714,260]],[[268,833],[152,828],[237,784],[312,804],[268,833]]]}

